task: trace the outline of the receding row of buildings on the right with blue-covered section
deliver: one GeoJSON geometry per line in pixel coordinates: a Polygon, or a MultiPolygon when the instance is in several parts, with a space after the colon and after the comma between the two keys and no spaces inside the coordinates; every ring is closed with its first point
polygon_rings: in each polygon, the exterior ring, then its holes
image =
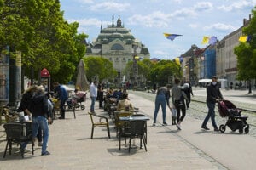
{"type": "MultiPolygon", "coordinates": [[[[224,80],[228,87],[230,87],[230,82],[234,85],[242,83],[242,85],[247,86],[246,82],[236,80],[237,56],[234,53],[234,48],[240,43],[239,37],[242,36],[242,28],[247,26],[250,20],[251,15],[249,16],[249,20],[243,20],[243,25],[239,29],[231,32],[215,45],[202,48],[201,53],[193,54],[192,51],[195,45],[192,45],[192,47],[183,54],[183,57],[187,58],[184,59],[185,63],[183,63],[183,79],[195,82],[195,80],[207,79],[216,75],[219,79],[224,80]],[[194,65],[191,65],[191,59],[194,65]]],[[[253,80],[253,84],[255,84],[255,80],[253,80]]]]}

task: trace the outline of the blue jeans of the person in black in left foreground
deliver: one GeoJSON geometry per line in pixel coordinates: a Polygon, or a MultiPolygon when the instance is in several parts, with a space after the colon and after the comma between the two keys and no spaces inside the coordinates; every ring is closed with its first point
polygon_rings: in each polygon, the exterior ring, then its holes
{"type": "Polygon", "coordinates": [[[38,128],[41,127],[43,131],[43,146],[42,146],[42,154],[45,153],[49,138],[49,127],[47,119],[44,116],[36,116],[32,117],[32,137],[36,138],[38,134],[38,128]]]}

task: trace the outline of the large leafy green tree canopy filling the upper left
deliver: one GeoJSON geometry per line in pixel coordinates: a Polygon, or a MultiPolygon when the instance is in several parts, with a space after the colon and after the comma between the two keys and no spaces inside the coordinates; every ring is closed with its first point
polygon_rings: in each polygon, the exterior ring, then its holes
{"type": "Polygon", "coordinates": [[[78,27],[64,20],[59,0],[0,0],[0,54],[21,52],[27,76],[45,67],[54,81],[70,81],[88,37],[78,27]]]}

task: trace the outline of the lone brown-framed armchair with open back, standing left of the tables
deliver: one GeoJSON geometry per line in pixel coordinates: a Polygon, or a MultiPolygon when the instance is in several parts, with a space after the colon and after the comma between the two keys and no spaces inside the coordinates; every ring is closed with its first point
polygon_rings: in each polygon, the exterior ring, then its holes
{"type": "Polygon", "coordinates": [[[106,116],[96,115],[96,113],[92,113],[92,112],[88,112],[88,114],[90,115],[90,120],[91,120],[91,135],[90,135],[90,138],[93,139],[93,133],[94,133],[94,128],[95,127],[107,127],[108,138],[110,139],[108,118],[106,116]],[[99,120],[96,122],[95,120],[97,118],[99,120]],[[104,120],[104,121],[102,122],[102,120],[104,120]]]}

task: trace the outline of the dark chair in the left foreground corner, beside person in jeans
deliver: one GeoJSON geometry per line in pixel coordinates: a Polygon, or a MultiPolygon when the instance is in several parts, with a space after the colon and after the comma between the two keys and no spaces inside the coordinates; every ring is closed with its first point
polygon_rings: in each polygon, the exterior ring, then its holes
{"type": "Polygon", "coordinates": [[[6,123],[3,125],[6,132],[6,147],[4,150],[3,158],[6,156],[6,152],[9,146],[9,155],[11,155],[12,144],[16,143],[20,145],[20,153],[24,158],[24,149],[21,149],[23,142],[32,143],[32,155],[34,155],[34,142],[32,139],[32,124],[31,123],[6,123]]]}

